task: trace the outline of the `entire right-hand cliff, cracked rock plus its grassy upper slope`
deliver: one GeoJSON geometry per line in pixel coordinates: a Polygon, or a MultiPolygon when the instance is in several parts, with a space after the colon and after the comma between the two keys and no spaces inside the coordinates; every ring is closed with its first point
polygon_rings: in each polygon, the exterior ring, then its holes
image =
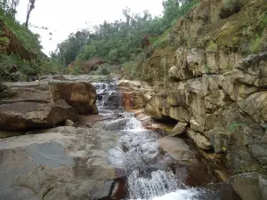
{"type": "Polygon", "coordinates": [[[266,173],[267,5],[227,7],[236,2],[199,1],[166,34],[168,46],[142,61],[142,77],[155,83],[145,112],[176,120],[173,135],[187,130],[198,148],[222,156],[231,174],[266,173]]]}

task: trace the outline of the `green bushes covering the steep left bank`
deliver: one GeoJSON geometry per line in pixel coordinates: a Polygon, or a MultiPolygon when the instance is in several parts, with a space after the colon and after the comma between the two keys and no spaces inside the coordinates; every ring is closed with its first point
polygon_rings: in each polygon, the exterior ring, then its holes
{"type": "MultiPolygon", "coordinates": [[[[16,6],[18,0],[2,1],[0,0],[0,19],[4,21],[4,25],[12,31],[17,39],[23,44],[24,48],[29,52],[37,54],[36,60],[23,60],[18,55],[0,54],[0,79],[10,80],[10,72],[12,66],[17,66],[18,70],[26,75],[42,75],[42,74],[59,74],[64,68],[58,64],[54,56],[51,60],[45,58],[40,44],[40,38],[37,34],[32,33],[25,25],[21,25],[15,20],[16,6]]],[[[8,44],[10,39],[6,36],[0,36],[0,42],[8,44]]]]}

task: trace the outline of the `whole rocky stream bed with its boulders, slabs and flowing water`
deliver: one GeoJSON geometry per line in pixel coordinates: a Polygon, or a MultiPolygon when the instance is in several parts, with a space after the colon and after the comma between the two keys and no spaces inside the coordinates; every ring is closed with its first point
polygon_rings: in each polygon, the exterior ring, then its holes
{"type": "Polygon", "coordinates": [[[172,120],[133,108],[133,100],[143,107],[150,99],[146,84],[89,82],[1,84],[0,199],[240,199],[231,185],[241,180],[220,183],[212,152],[185,134],[171,136],[172,120]]]}

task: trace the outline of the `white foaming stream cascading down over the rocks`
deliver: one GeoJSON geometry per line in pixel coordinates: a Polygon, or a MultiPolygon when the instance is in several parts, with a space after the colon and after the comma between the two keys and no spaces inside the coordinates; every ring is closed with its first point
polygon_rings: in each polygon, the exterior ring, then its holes
{"type": "Polygon", "coordinates": [[[158,148],[157,140],[163,135],[158,131],[146,130],[134,117],[121,107],[117,81],[93,83],[96,87],[99,115],[119,116],[105,122],[108,131],[117,131],[122,148],[112,148],[112,164],[123,167],[126,174],[127,196],[130,199],[155,200],[215,200],[220,199],[218,191],[210,188],[189,187],[182,172],[176,174],[170,167],[172,157],[158,148]],[[111,102],[111,103],[110,103],[111,102]],[[116,157],[116,159],[114,158],[116,157]]]}

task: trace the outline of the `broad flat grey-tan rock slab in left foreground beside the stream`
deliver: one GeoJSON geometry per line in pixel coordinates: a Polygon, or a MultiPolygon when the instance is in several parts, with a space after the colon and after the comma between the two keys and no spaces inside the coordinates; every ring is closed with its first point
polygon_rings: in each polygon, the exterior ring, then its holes
{"type": "Polygon", "coordinates": [[[112,189],[106,180],[120,178],[108,153],[117,145],[117,132],[75,127],[0,139],[1,199],[101,198],[112,189]]]}

